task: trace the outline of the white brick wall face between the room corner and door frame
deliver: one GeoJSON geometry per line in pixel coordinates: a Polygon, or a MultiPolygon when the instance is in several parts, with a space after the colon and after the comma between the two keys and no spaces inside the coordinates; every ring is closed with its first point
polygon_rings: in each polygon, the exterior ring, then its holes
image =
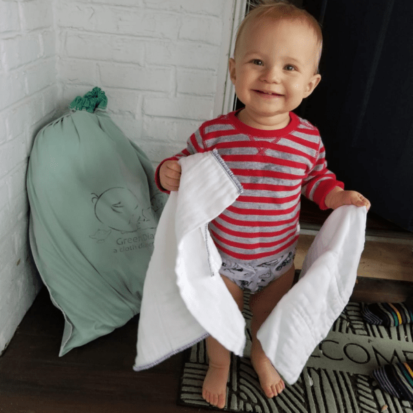
{"type": "Polygon", "coordinates": [[[224,8],[222,0],[57,1],[61,110],[102,87],[113,120],[155,164],[180,151],[213,116],[224,8]]]}

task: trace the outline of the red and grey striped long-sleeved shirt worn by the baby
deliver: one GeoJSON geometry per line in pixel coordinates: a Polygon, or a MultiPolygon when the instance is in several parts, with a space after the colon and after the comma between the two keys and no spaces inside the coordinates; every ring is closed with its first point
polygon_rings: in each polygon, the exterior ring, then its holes
{"type": "MultiPolygon", "coordinates": [[[[236,114],[203,123],[186,149],[165,160],[218,151],[244,192],[209,224],[209,231],[226,260],[259,265],[297,241],[301,193],[326,209],[326,195],[344,185],[327,169],[319,131],[307,120],[290,112],[286,127],[268,131],[245,125],[236,114]]],[[[156,180],[165,191],[160,165],[156,180]]]]}

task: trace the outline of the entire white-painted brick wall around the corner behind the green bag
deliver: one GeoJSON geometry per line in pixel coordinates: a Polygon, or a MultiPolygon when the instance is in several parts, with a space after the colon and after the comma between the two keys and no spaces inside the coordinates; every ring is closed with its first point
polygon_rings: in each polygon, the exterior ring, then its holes
{"type": "Polygon", "coordinates": [[[36,132],[99,86],[154,164],[180,151],[223,89],[234,1],[0,0],[0,353],[39,288],[25,194],[36,132]]]}

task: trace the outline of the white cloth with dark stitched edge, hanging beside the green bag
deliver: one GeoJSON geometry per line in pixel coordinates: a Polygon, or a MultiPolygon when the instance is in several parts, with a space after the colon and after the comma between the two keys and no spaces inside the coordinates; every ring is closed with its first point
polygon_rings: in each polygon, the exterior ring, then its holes
{"type": "Polygon", "coordinates": [[[245,321],[218,273],[222,260],[208,231],[242,187],[217,151],[179,162],[180,189],[169,195],[160,217],[145,278],[136,371],[209,334],[237,355],[245,346],[245,321]]]}

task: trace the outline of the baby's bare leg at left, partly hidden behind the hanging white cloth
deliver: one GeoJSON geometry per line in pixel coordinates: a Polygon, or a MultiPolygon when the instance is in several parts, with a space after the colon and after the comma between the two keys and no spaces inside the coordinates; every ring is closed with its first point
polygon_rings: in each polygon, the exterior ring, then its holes
{"type": "MultiPolygon", "coordinates": [[[[222,279],[238,307],[242,310],[244,293],[241,288],[226,277],[222,277],[222,279]]],[[[211,405],[222,409],[225,407],[226,382],[228,381],[231,354],[213,337],[208,337],[206,341],[209,366],[202,386],[202,397],[211,405]]]]}

